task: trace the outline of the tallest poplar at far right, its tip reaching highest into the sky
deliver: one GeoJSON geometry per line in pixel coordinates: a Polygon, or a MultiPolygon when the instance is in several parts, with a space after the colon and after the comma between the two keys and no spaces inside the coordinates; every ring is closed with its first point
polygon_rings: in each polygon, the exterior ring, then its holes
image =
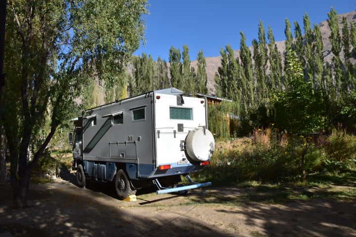
{"type": "Polygon", "coordinates": [[[342,93],[342,90],[345,89],[345,82],[343,81],[343,70],[342,70],[342,62],[340,59],[341,52],[341,36],[339,32],[339,16],[334,8],[331,8],[330,12],[328,12],[327,23],[331,30],[331,34],[329,37],[331,43],[331,51],[334,54],[333,63],[335,69],[335,82],[336,87],[338,89],[338,94],[342,93]]]}

